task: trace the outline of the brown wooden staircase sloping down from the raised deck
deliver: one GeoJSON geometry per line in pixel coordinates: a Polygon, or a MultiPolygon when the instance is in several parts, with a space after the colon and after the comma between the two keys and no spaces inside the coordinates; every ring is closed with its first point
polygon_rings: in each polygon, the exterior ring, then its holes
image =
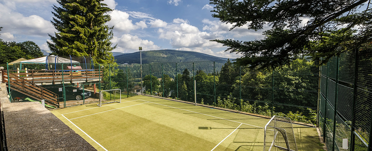
{"type": "Polygon", "coordinates": [[[52,91],[47,90],[46,88],[36,85],[32,81],[28,81],[25,78],[19,77],[16,74],[9,73],[9,81],[6,71],[3,71],[2,75],[3,82],[8,83],[8,87],[10,84],[10,88],[12,90],[18,91],[19,93],[23,93],[38,100],[45,100],[45,104],[59,108],[60,101],[58,94],[55,94],[52,91]]]}

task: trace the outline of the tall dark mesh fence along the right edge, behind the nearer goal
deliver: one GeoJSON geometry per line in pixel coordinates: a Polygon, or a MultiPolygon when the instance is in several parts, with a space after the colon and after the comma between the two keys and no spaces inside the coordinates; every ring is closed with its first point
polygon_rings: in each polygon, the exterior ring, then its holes
{"type": "Polygon", "coordinates": [[[372,150],[371,43],[321,66],[319,116],[328,151],[372,150]],[[343,146],[343,139],[348,139],[348,146],[343,146]]]}

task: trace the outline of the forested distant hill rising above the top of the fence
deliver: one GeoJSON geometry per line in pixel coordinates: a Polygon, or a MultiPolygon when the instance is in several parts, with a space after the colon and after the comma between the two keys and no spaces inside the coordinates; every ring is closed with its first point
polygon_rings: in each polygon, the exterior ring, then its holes
{"type": "MultiPolygon", "coordinates": [[[[118,64],[132,64],[140,63],[140,52],[122,54],[115,56],[116,63],[118,64]]],[[[146,63],[170,63],[170,62],[192,62],[192,61],[217,61],[227,60],[227,58],[221,58],[211,56],[208,54],[198,53],[194,51],[183,51],[183,50],[150,50],[142,51],[142,64],[146,63]]]]}

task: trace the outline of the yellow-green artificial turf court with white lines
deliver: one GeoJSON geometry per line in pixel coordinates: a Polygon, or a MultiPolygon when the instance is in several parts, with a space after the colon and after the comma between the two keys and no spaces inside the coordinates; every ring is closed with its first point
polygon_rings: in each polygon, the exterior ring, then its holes
{"type": "MultiPolygon", "coordinates": [[[[269,119],[144,95],[121,102],[51,112],[98,151],[263,151],[269,119]]],[[[293,127],[299,151],[322,148],[315,128],[293,127]]]]}

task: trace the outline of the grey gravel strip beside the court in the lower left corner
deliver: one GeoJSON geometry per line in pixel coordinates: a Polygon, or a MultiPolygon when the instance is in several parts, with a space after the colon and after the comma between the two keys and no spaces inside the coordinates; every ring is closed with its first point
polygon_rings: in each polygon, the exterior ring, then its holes
{"type": "Polygon", "coordinates": [[[0,94],[9,151],[96,151],[40,103],[6,103],[0,94]]]}

